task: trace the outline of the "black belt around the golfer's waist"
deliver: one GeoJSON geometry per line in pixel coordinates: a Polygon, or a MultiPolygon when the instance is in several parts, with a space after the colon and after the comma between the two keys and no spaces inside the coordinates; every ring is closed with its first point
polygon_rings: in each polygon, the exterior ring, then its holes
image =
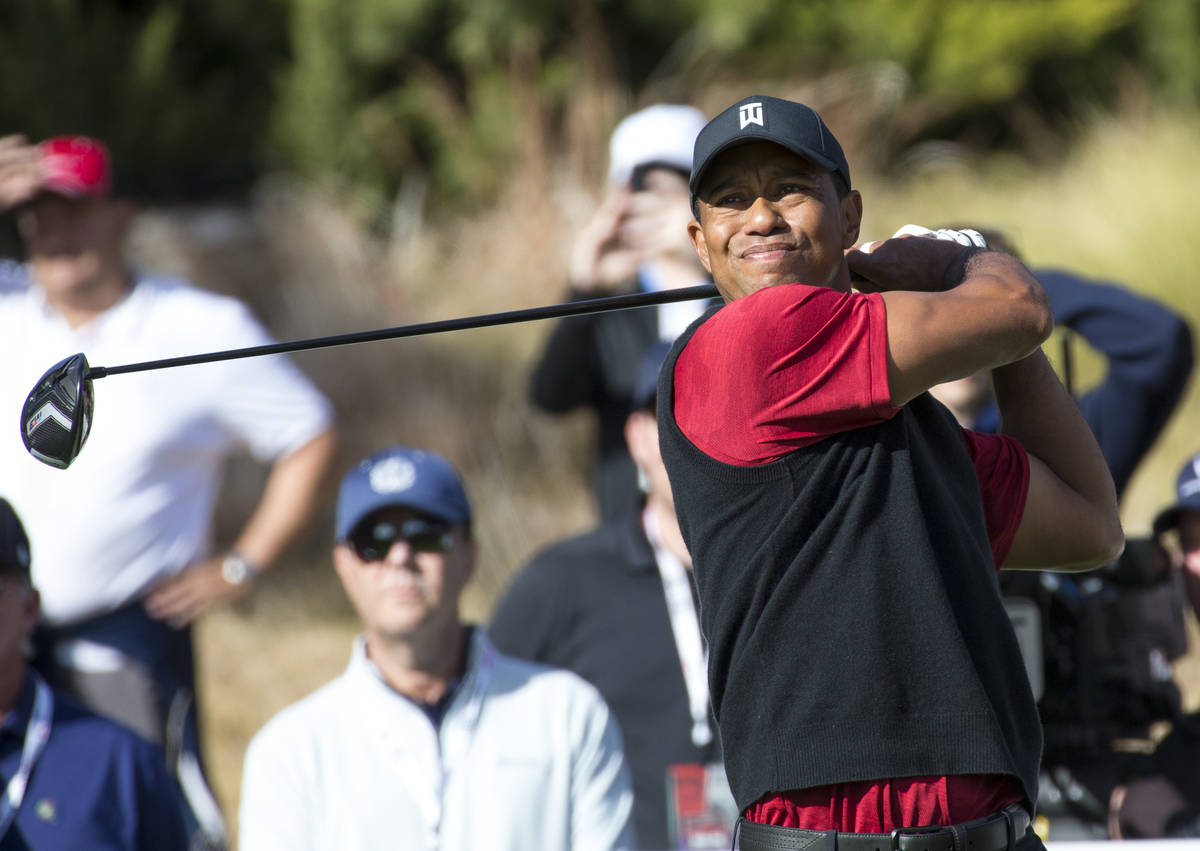
{"type": "Polygon", "coordinates": [[[738,819],[740,851],[1010,851],[1030,829],[1020,804],[962,825],[902,827],[892,833],[802,831],[738,819]]]}

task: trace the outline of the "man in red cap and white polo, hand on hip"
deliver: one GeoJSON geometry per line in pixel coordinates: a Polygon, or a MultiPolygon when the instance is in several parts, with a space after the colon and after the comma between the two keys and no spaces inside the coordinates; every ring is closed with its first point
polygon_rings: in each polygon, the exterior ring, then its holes
{"type": "MultiPolygon", "coordinates": [[[[19,410],[58,360],[125,364],[270,342],[240,302],[132,269],[132,202],[102,143],[0,139],[0,211],[19,206],[28,264],[0,264],[0,402],[19,410]]],[[[314,508],[331,412],[283,358],[121,376],[68,471],[0,433],[0,469],[37,551],[38,667],[90,708],[162,744],[204,834],[222,841],[203,779],[188,624],[248,593],[314,508]],[[228,552],[210,527],[222,465],[248,449],[270,474],[228,552]]]]}

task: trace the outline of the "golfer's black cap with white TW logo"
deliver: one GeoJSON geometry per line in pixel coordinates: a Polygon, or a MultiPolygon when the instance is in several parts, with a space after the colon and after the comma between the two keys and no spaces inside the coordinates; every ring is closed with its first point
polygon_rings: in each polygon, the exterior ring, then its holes
{"type": "Polygon", "coordinates": [[[691,179],[688,181],[692,214],[698,215],[696,192],[713,160],[722,151],[748,142],[774,142],[841,175],[846,187],[851,186],[846,155],[812,107],[768,95],[751,95],[706,124],[696,137],[691,179]]]}

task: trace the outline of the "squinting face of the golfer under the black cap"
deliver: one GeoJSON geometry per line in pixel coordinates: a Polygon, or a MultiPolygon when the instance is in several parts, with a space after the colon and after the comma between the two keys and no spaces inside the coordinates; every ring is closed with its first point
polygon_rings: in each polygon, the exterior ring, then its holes
{"type": "Polygon", "coordinates": [[[862,205],[829,172],[779,145],[733,148],[697,193],[692,246],[726,300],[779,283],[848,288],[844,250],[858,239],[862,205]]]}

